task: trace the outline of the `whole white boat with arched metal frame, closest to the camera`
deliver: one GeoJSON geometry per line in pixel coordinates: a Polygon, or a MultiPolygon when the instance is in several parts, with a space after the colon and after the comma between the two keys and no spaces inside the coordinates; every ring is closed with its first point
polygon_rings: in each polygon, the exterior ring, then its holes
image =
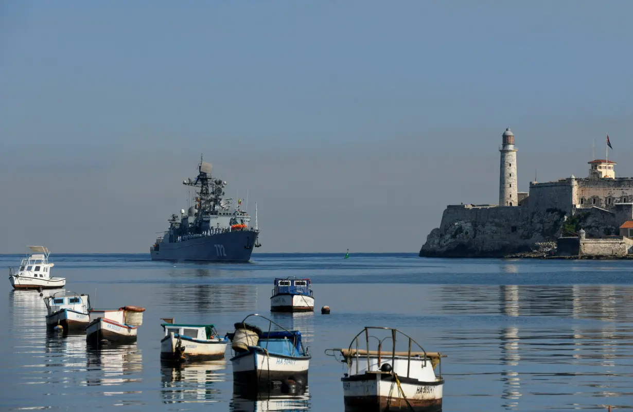
{"type": "Polygon", "coordinates": [[[329,356],[334,356],[335,352],[340,352],[342,361],[348,365],[348,373],[341,378],[346,411],[396,411],[403,408],[415,412],[441,411],[444,387],[441,358],[446,355],[427,352],[409,335],[387,327],[365,327],[347,349],[325,350],[329,356]],[[370,330],[388,330],[391,334],[380,339],[370,335],[370,330]],[[360,349],[358,344],[363,333],[366,349],[360,349]],[[407,351],[396,351],[398,334],[408,339],[407,351]],[[370,338],[378,341],[375,351],[370,349],[370,338]],[[382,344],[387,339],[391,339],[392,348],[383,351],[382,344]],[[413,344],[420,351],[411,351],[413,344]]]}

